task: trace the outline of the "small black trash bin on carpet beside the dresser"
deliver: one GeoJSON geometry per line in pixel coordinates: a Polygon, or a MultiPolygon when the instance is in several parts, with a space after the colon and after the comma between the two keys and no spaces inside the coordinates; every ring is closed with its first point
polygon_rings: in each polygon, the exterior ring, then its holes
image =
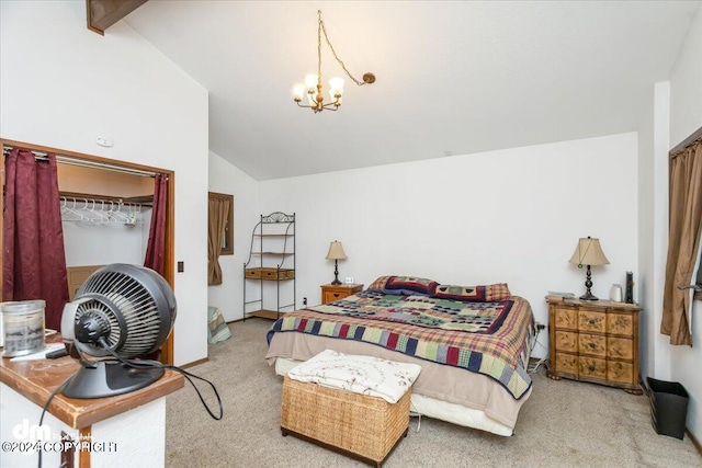
{"type": "Polygon", "coordinates": [[[677,381],[656,380],[646,377],[650,418],[658,434],[682,440],[690,397],[684,387],[677,381]]]}

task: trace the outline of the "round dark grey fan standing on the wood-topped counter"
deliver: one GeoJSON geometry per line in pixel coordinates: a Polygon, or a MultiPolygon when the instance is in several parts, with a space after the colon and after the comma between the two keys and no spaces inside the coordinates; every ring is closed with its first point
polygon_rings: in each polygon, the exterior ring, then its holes
{"type": "Polygon", "coordinates": [[[165,370],[159,363],[129,359],[163,344],[176,309],[172,289],[150,269],[115,263],[92,273],[61,316],[64,342],[75,346],[81,364],[63,393],[110,397],[161,378],[165,370]]]}

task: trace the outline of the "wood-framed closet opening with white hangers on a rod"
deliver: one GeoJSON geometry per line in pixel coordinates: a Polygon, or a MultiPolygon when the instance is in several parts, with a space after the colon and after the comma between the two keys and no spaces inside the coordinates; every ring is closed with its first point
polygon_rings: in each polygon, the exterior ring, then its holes
{"type": "MultiPolygon", "coordinates": [[[[49,152],[56,155],[61,228],[71,298],[90,273],[102,265],[144,264],[151,221],[154,175],[166,174],[169,196],[166,206],[163,276],[173,287],[172,171],[22,141],[0,139],[0,142],[3,148],[0,165],[3,169],[3,187],[4,158],[11,148],[25,148],[37,157],[49,152]]],[[[4,197],[0,201],[0,208],[3,207],[4,197]]],[[[161,361],[167,364],[173,362],[173,333],[161,347],[161,361]]]]}

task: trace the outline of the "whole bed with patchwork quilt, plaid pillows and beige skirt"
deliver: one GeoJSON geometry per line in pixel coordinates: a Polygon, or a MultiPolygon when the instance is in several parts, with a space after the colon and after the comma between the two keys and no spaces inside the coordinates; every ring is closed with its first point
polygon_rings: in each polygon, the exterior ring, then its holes
{"type": "Polygon", "coordinates": [[[381,276],[355,295],[285,313],[268,332],[265,359],[280,375],[327,349],[419,364],[414,412],[509,436],[532,391],[533,334],[529,301],[505,283],[381,276]]]}

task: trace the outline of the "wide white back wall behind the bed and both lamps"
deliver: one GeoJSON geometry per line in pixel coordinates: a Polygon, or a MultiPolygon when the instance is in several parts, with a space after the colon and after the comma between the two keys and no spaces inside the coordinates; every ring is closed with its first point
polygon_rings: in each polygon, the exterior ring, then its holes
{"type": "Polygon", "coordinates": [[[568,263],[578,238],[600,238],[610,260],[593,267],[596,296],[638,270],[636,157],[636,134],[623,134],[267,181],[261,210],[297,214],[298,300],[319,304],[337,239],[342,281],[507,282],[547,323],[548,290],[585,292],[585,271],[568,263]]]}

